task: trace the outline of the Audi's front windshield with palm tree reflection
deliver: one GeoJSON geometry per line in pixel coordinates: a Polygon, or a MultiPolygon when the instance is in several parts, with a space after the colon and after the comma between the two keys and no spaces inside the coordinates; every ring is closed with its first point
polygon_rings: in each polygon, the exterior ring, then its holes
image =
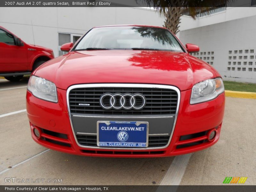
{"type": "Polygon", "coordinates": [[[183,52],[175,37],[164,28],[115,26],[93,28],[75,50],[148,49],[183,52]]]}

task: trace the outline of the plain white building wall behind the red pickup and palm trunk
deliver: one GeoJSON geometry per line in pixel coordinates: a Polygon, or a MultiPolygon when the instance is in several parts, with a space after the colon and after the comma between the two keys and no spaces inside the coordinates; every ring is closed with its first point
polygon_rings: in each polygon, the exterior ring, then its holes
{"type": "Polygon", "coordinates": [[[1,7],[0,26],[28,44],[51,48],[58,56],[58,33],[84,34],[92,27],[116,24],[162,26],[164,18],[132,7],[1,7]],[[33,24],[33,30],[32,30],[33,24]]]}

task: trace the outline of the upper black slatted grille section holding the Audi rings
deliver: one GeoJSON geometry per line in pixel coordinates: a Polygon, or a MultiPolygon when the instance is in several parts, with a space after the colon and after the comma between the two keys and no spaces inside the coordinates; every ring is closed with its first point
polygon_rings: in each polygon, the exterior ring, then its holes
{"type": "Polygon", "coordinates": [[[177,100],[176,91],[160,88],[84,87],[69,92],[70,113],[84,116],[174,116],[177,100]]]}

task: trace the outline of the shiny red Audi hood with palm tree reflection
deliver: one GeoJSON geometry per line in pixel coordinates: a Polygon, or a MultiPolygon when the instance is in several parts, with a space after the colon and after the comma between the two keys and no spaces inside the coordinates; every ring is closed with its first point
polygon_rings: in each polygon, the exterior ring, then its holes
{"type": "Polygon", "coordinates": [[[74,84],[167,84],[181,91],[216,77],[208,64],[187,53],[169,51],[97,50],[69,52],[42,65],[34,75],[60,89],[74,84]]]}

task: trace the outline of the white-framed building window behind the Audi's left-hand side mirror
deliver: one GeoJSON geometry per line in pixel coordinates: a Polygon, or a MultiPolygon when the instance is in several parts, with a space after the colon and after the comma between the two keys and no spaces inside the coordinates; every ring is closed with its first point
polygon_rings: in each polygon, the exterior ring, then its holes
{"type": "Polygon", "coordinates": [[[61,45],[65,43],[70,43],[73,42],[74,44],[76,41],[82,36],[82,34],[72,34],[72,33],[59,33],[58,38],[59,38],[59,56],[64,55],[67,52],[63,52],[60,50],[61,45]]]}

